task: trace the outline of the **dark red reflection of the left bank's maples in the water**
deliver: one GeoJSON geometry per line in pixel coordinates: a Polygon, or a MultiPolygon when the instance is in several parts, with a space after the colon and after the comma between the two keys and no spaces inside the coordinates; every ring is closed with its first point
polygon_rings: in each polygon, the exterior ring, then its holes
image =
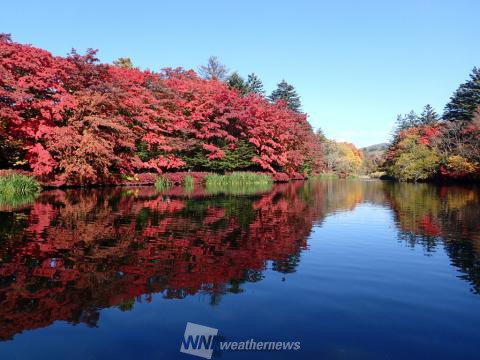
{"type": "Polygon", "coordinates": [[[95,325],[95,309],[142,295],[220,294],[247,281],[247,270],[306,247],[319,213],[297,188],[219,201],[141,188],[44,194],[1,250],[0,338],[56,320],[95,325]]]}

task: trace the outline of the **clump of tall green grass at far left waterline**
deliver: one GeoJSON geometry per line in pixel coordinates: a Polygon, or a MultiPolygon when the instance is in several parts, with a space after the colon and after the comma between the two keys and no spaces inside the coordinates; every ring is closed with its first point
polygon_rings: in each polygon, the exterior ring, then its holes
{"type": "Polygon", "coordinates": [[[0,205],[17,207],[35,200],[41,186],[31,176],[8,174],[0,176],[0,205]]]}

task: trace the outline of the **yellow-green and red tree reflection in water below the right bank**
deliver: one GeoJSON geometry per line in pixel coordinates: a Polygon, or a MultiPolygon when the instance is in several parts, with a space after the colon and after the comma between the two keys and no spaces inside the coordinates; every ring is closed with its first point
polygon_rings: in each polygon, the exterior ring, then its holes
{"type": "Polygon", "coordinates": [[[480,192],[476,187],[395,184],[385,186],[398,237],[427,253],[443,246],[461,278],[480,293],[480,192]]]}

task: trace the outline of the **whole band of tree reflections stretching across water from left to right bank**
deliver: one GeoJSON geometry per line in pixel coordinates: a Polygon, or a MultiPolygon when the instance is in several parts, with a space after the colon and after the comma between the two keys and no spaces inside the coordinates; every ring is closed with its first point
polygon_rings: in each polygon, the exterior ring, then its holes
{"type": "Polygon", "coordinates": [[[218,305],[261,281],[267,262],[295,272],[312,226],[361,203],[391,208],[409,246],[444,246],[480,290],[476,188],[309,181],[257,190],[55,190],[1,212],[0,338],[56,320],[96,326],[100,309],[128,311],[154,293],[201,293],[218,305]]]}

